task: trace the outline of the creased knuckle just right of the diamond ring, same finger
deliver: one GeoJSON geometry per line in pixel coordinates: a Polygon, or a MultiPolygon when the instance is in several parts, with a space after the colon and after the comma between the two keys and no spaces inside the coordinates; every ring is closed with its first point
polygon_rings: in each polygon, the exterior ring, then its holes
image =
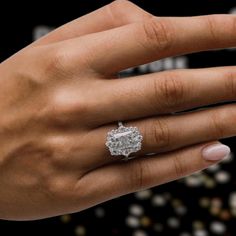
{"type": "Polygon", "coordinates": [[[153,119],[151,122],[152,138],[155,146],[162,150],[170,147],[170,129],[168,125],[161,119],[153,119]]]}

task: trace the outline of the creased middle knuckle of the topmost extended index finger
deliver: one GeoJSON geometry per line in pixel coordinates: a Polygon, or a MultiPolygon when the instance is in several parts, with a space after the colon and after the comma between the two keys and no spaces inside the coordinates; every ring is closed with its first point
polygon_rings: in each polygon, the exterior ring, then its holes
{"type": "Polygon", "coordinates": [[[174,39],[174,30],[168,20],[157,19],[155,16],[149,17],[141,23],[144,35],[145,47],[151,47],[158,51],[169,50],[174,39]]]}

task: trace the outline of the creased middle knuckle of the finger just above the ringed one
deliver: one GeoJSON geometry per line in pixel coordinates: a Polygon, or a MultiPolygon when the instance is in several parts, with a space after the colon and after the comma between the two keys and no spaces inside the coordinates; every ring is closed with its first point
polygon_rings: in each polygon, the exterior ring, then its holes
{"type": "Polygon", "coordinates": [[[176,109],[185,102],[186,88],[177,73],[169,72],[168,75],[156,81],[154,88],[155,96],[157,98],[161,96],[165,109],[176,109]]]}

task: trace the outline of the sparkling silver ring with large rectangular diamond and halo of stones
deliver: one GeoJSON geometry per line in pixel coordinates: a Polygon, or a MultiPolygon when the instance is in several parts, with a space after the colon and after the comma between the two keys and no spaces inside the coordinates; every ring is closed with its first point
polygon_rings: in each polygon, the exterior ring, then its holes
{"type": "Polygon", "coordinates": [[[125,127],[122,122],[118,125],[118,129],[107,133],[106,146],[112,156],[122,155],[124,160],[128,160],[131,153],[141,150],[143,136],[137,127],[125,127]]]}

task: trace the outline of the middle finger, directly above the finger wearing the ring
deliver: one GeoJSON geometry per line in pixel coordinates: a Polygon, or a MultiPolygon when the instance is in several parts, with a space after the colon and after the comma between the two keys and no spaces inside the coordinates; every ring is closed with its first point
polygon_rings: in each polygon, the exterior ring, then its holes
{"type": "Polygon", "coordinates": [[[87,122],[103,125],[231,101],[236,67],[176,70],[105,80],[94,93],[87,122]]]}

